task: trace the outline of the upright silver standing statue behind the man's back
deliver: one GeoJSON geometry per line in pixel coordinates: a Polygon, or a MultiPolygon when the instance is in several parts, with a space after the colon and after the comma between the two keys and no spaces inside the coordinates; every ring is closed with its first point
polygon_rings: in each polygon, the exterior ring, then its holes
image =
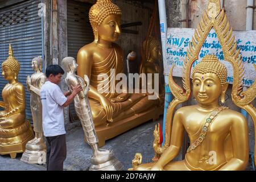
{"type": "Polygon", "coordinates": [[[35,138],[27,142],[26,151],[20,160],[28,164],[46,163],[46,144],[44,143],[42,103],[40,100],[40,89],[46,82],[46,75],[42,73],[42,65],[43,59],[41,56],[32,59],[32,69],[35,73],[31,77],[27,76],[27,89],[30,92],[30,107],[35,138]]]}

